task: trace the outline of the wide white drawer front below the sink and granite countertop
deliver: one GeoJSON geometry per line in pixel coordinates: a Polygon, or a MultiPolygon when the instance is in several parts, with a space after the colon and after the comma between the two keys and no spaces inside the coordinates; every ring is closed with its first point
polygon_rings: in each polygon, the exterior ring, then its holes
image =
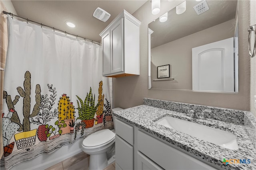
{"type": "Polygon", "coordinates": [[[138,130],[138,150],[156,164],[168,170],[215,169],[140,130],[138,130]]]}

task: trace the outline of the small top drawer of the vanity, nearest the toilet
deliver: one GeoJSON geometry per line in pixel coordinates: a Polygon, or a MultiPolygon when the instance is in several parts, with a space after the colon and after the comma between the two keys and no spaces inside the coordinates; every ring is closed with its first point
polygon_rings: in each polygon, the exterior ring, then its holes
{"type": "Polygon", "coordinates": [[[115,131],[122,139],[133,145],[133,127],[131,125],[116,119],[115,131]]]}

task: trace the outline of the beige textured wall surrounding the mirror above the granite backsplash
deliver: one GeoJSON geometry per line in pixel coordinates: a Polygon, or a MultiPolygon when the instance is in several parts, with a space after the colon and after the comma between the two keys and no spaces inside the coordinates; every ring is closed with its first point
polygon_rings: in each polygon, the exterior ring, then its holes
{"type": "MultiPolygon", "coordinates": [[[[160,14],[151,14],[150,1],[134,12],[140,25],[140,75],[114,78],[114,107],[128,108],[143,103],[143,98],[250,110],[250,58],[248,57],[249,1],[239,1],[239,92],[238,94],[203,93],[181,90],[148,90],[148,23],[176,6],[178,1],[161,1],[160,14]]],[[[255,88],[255,87],[254,87],[255,88]]]]}

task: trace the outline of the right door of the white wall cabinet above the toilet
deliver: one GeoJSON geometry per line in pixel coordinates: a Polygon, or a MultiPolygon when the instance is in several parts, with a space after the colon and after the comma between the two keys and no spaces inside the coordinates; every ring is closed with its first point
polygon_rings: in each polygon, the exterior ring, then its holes
{"type": "Polygon", "coordinates": [[[111,74],[124,71],[123,58],[123,19],[121,18],[110,29],[111,34],[111,74]]]}

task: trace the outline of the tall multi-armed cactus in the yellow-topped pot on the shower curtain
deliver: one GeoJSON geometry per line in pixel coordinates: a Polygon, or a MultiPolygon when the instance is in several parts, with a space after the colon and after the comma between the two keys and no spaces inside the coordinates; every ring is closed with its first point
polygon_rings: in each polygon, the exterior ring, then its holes
{"type": "Polygon", "coordinates": [[[11,121],[14,123],[17,123],[18,125],[20,125],[20,129],[18,129],[18,131],[30,131],[30,117],[34,117],[38,114],[38,112],[40,111],[40,102],[41,102],[41,88],[39,84],[36,84],[36,104],[34,105],[33,111],[30,114],[30,102],[31,102],[31,98],[30,98],[30,94],[31,94],[31,74],[29,71],[26,71],[25,76],[24,76],[25,80],[24,80],[24,89],[22,89],[22,87],[18,87],[18,93],[20,94],[20,96],[23,98],[23,124],[20,123],[20,118],[17,117],[13,117],[11,121]]]}

